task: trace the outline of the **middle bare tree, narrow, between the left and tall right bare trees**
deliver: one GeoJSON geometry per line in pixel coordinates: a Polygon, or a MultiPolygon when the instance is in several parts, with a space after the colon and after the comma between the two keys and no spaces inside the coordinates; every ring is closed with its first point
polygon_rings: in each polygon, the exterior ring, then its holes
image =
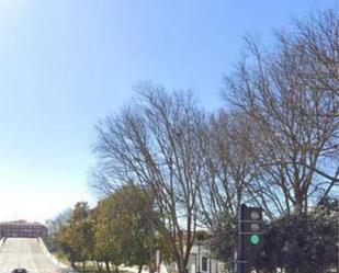
{"type": "Polygon", "coordinates": [[[235,217],[241,202],[255,201],[248,191],[256,178],[252,129],[240,112],[221,111],[210,116],[208,127],[203,132],[205,175],[199,192],[200,218],[207,227],[214,225],[219,215],[235,217]]]}

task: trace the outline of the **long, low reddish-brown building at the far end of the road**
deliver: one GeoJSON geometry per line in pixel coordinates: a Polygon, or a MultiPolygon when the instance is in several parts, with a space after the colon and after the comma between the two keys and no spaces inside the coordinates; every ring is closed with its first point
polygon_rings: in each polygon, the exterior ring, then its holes
{"type": "Polygon", "coordinates": [[[2,237],[46,237],[48,229],[39,223],[29,223],[26,220],[0,223],[0,238],[2,237]]]}

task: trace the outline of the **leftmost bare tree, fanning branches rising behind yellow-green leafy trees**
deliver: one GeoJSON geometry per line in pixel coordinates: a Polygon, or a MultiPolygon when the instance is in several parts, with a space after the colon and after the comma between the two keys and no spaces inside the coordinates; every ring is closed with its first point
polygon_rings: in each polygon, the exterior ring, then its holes
{"type": "Polygon", "coordinates": [[[97,186],[136,183],[150,191],[161,217],[155,228],[184,273],[197,225],[204,114],[190,92],[168,94],[151,83],[137,89],[137,103],[98,124],[95,152],[104,180],[97,186]]]}

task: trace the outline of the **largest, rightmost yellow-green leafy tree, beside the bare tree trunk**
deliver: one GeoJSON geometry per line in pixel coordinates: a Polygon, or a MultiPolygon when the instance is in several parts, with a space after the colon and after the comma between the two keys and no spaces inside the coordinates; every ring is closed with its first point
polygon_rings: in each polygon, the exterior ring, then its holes
{"type": "Polygon", "coordinates": [[[150,261],[150,249],[160,244],[151,234],[157,215],[148,194],[140,187],[123,186],[102,200],[94,215],[94,252],[106,271],[110,261],[115,269],[120,263],[138,264],[142,272],[150,261]]]}

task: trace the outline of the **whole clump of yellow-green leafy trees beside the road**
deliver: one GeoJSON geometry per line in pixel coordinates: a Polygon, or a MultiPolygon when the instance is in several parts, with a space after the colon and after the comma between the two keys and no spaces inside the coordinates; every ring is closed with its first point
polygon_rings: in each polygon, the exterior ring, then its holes
{"type": "Polygon", "coordinates": [[[161,250],[162,258],[170,257],[168,246],[156,232],[158,221],[150,195],[126,185],[93,209],[84,202],[77,203],[67,220],[57,218],[50,224],[55,244],[72,264],[97,260],[117,268],[121,263],[149,263],[150,248],[154,257],[156,249],[161,250]],[[58,225],[54,225],[56,221],[58,225]]]}

